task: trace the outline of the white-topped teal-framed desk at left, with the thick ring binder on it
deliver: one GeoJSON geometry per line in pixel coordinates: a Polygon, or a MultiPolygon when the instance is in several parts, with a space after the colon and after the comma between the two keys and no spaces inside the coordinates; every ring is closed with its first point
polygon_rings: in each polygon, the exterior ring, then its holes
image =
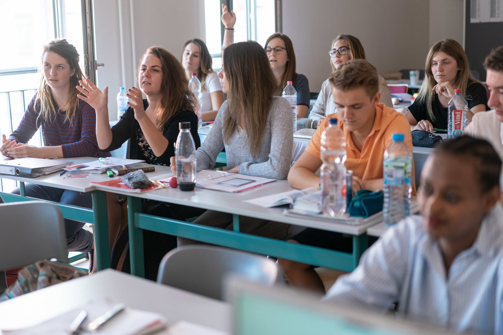
{"type": "MultiPolygon", "coordinates": [[[[58,160],[72,161],[75,164],[86,163],[95,161],[93,157],[71,157],[59,158],[58,160]]],[[[163,171],[169,169],[167,166],[156,166],[155,172],[150,172],[149,176],[155,176],[163,171]]],[[[24,196],[24,183],[33,183],[49,187],[58,187],[65,190],[77,191],[84,194],[91,194],[93,198],[93,208],[84,208],[79,206],[72,206],[58,202],[52,202],[59,209],[61,209],[64,218],[69,218],[81,222],[89,222],[95,225],[95,241],[97,259],[96,265],[98,270],[110,267],[110,244],[108,239],[108,217],[107,217],[107,197],[106,193],[98,191],[91,181],[104,181],[107,180],[106,173],[91,173],[89,177],[82,179],[64,179],[66,174],[60,176],[59,172],[51,173],[48,175],[27,178],[11,175],[0,175],[0,178],[13,179],[20,182],[21,195],[11,194],[8,192],[0,192],[0,196],[4,202],[14,201],[28,201],[34,198],[24,196]]]]}

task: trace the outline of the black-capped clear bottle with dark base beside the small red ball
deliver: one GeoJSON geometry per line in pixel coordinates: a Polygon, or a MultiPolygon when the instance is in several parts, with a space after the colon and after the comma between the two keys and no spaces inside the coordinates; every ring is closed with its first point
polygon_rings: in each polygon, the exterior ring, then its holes
{"type": "Polygon", "coordinates": [[[179,124],[175,162],[180,190],[192,191],[196,186],[196,144],[190,133],[190,122],[179,124]]]}

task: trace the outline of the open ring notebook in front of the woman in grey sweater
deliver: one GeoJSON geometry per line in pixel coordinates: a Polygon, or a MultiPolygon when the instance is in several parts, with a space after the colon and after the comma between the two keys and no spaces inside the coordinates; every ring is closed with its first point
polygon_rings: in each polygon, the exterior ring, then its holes
{"type": "Polygon", "coordinates": [[[229,193],[239,193],[247,191],[249,189],[257,188],[264,184],[276,181],[276,179],[247,176],[239,173],[228,173],[214,170],[199,171],[196,175],[196,180],[197,180],[196,187],[212,189],[217,191],[224,191],[229,193]],[[235,179],[247,180],[248,182],[240,186],[228,186],[222,184],[222,182],[228,182],[235,179]]]}

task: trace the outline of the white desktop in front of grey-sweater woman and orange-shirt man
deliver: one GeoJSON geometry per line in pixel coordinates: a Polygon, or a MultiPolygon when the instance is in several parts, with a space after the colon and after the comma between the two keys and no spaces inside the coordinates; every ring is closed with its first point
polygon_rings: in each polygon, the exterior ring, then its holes
{"type": "MultiPolygon", "coordinates": [[[[156,178],[172,176],[172,173],[158,175],[156,178]]],[[[97,187],[100,189],[100,187],[97,187]]],[[[304,218],[294,218],[283,215],[284,207],[264,208],[257,205],[243,202],[244,200],[258,198],[265,195],[276,194],[293,190],[286,180],[278,180],[266,184],[259,188],[241,192],[227,193],[215,190],[197,188],[194,191],[181,191],[180,188],[166,187],[145,193],[128,193],[129,196],[152,199],[164,202],[177,203],[198,208],[206,208],[226,213],[262,218],[277,222],[285,222],[301,227],[318,228],[326,231],[339,232],[343,234],[361,235],[373,224],[362,224],[358,226],[336,224],[332,222],[314,221],[304,218]]],[[[120,190],[117,190],[120,193],[120,190]]],[[[126,193],[124,193],[126,194],[126,193]]]]}

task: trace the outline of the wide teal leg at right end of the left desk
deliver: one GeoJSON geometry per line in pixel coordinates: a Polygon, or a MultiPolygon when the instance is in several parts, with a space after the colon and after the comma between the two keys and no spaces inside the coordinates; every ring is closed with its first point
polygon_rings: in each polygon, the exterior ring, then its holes
{"type": "Polygon", "coordinates": [[[95,252],[98,270],[110,268],[110,242],[108,237],[107,193],[93,192],[93,215],[95,224],[95,252]]]}

